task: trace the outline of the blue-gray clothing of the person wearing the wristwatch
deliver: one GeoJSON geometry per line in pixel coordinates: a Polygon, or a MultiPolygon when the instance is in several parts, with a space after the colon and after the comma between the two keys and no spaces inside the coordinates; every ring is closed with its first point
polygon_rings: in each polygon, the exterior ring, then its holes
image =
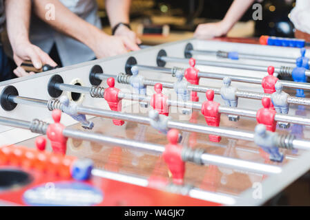
{"type": "MultiPolygon", "coordinates": [[[[97,16],[98,5],[96,0],[59,1],[81,19],[101,29],[101,22],[97,16]]],[[[52,45],[55,43],[61,63],[64,66],[90,61],[95,58],[94,52],[89,47],[65,34],[57,32],[37,17],[32,17],[30,41],[46,53],[50,52],[52,45]]]]}

